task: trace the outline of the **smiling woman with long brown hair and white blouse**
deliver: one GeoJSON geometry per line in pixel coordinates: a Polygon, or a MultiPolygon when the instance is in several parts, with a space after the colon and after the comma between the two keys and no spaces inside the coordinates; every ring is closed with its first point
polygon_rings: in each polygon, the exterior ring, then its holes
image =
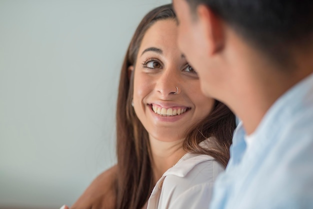
{"type": "Polygon", "coordinates": [[[90,205],[104,208],[208,205],[212,184],[229,158],[235,118],[224,104],[202,94],[176,38],[171,4],[141,20],[120,74],[117,165],[103,172],[72,208],[80,208],[90,193],[100,196],[90,205]],[[115,203],[108,206],[107,198],[115,203]]]}

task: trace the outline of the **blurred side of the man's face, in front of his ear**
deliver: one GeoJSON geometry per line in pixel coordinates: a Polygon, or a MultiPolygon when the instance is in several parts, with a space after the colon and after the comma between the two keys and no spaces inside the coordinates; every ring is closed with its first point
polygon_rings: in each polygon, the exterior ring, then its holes
{"type": "Polygon", "coordinates": [[[192,12],[186,0],[173,0],[173,7],[178,19],[179,49],[197,72],[202,92],[220,99],[225,87],[225,72],[220,70],[210,53],[209,21],[206,16],[199,17],[198,10],[192,12]]]}

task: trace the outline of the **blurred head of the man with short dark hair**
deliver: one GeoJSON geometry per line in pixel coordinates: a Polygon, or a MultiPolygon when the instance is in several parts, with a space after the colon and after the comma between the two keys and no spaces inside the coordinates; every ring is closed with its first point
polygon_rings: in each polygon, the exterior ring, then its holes
{"type": "Polygon", "coordinates": [[[294,50],[313,45],[312,0],[173,0],[173,4],[180,49],[197,70],[204,93],[223,101],[225,84],[239,76],[235,70],[241,64],[253,59],[250,51],[272,68],[288,71],[296,65],[294,50]]]}

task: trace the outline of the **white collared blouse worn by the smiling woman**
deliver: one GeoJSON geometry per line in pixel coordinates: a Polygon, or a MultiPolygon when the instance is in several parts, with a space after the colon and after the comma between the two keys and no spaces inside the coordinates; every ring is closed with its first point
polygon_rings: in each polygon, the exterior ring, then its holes
{"type": "Polygon", "coordinates": [[[213,183],[223,170],[209,155],[186,153],[156,182],[147,209],[208,208],[213,183]]]}

